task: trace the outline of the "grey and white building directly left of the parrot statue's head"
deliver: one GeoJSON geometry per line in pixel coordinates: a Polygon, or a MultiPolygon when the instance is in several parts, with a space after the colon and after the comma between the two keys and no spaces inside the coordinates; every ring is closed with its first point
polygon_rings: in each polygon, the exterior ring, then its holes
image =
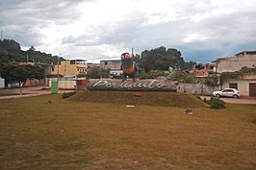
{"type": "Polygon", "coordinates": [[[110,75],[119,77],[122,75],[121,60],[100,61],[100,67],[110,70],[110,75]]]}

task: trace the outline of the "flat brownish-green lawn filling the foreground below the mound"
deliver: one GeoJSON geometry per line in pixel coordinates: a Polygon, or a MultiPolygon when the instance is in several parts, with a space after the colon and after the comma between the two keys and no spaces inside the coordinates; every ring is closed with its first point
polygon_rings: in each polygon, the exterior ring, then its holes
{"type": "Polygon", "coordinates": [[[256,169],[256,106],[0,101],[0,169],[256,169]]]}

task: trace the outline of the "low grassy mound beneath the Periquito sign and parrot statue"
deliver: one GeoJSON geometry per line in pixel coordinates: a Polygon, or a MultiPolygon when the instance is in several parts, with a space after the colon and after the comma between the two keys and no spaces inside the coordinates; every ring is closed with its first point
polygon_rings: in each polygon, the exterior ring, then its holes
{"type": "Polygon", "coordinates": [[[71,96],[68,100],[178,108],[201,108],[207,106],[191,94],[174,92],[83,91],[71,96]]]}

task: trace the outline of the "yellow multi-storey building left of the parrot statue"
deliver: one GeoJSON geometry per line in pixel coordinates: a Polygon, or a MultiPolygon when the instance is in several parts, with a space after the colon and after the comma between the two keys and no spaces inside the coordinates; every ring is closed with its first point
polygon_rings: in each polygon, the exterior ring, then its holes
{"type": "Polygon", "coordinates": [[[51,70],[52,75],[62,75],[64,77],[73,77],[81,74],[87,74],[87,64],[85,60],[62,61],[59,65],[54,65],[51,70]],[[59,68],[58,68],[59,67],[59,68]]]}

